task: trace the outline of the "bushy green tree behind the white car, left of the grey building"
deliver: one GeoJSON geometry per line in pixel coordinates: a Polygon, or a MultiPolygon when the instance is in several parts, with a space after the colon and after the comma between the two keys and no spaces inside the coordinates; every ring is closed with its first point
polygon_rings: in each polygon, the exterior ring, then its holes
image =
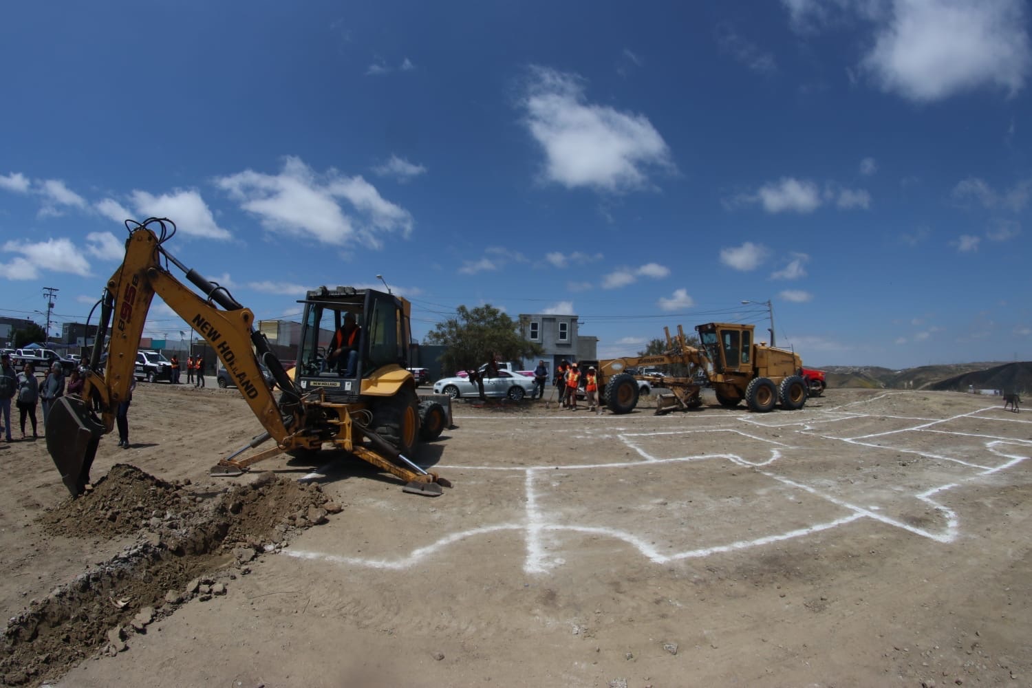
{"type": "Polygon", "coordinates": [[[540,356],[541,347],[516,330],[517,322],[490,303],[475,308],[460,305],[454,318],[438,323],[423,337],[423,343],[445,347],[441,364],[452,373],[476,370],[492,356],[503,361],[540,356]]]}

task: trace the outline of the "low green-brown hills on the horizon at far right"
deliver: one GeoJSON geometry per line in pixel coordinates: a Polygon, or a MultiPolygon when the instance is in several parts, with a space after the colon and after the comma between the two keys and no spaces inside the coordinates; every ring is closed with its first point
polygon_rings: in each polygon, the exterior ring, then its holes
{"type": "Polygon", "coordinates": [[[902,370],[873,365],[830,365],[821,369],[827,373],[829,388],[967,391],[973,386],[975,389],[1014,389],[1032,393],[1032,362],[955,363],[902,370]]]}

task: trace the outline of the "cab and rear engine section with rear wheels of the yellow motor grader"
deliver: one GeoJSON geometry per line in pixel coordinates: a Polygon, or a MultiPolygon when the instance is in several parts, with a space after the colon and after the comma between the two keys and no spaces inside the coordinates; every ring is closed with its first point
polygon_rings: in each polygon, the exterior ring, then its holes
{"type": "Polygon", "coordinates": [[[720,405],[734,408],[742,400],[755,412],[768,412],[781,402],[785,409],[802,408],[807,385],[798,354],[755,343],[752,325],[698,325],[699,341],[713,364],[710,383],[720,405]]]}

